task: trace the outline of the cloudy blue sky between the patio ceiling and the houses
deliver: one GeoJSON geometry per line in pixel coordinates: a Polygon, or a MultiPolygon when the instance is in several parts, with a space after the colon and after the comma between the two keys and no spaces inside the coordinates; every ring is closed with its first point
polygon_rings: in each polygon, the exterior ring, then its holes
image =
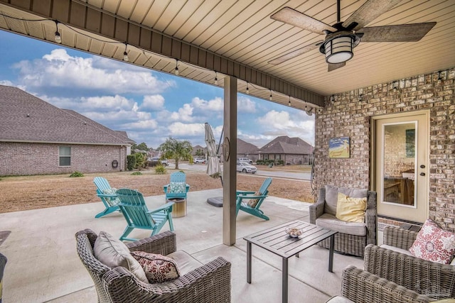
{"type": "MultiPolygon", "coordinates": [[[[0,40],[1,85],[127,131],[151,148],[170,136],[205,146],[205,122],[220,138],[223,89],[6,31],[0,40]]],[[[245,94],[237,101],[238,138],[258,147],[277,136],[314,145],[314,116],[245,94]]]]}

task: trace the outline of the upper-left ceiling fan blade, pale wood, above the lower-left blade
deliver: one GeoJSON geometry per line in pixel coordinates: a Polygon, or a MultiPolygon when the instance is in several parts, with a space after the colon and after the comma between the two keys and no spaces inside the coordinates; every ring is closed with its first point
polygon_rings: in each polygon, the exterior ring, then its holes
{"type": "Polygon", "coordinates": [[[291,24],[291,26],[303,28],[307,31],[312,31],[313,33],[319,33],[320,35],[324,35],[324,31],[336,31],[336,28],[333,28],[326,23],[316,20],[315,18],[306,16],[304,13],[296,11],[295,9],[291,9],[290,7],[284,7],[280,9],[272,16],[270,16],[270,18],[291,24]]]}

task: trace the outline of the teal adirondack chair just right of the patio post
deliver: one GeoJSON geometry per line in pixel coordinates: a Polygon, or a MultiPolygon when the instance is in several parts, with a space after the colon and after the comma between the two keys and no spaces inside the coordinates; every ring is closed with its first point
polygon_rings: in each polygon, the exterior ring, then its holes
{"type": "Polygon", "coordinates": [[[267,178],[262,182],[261,187],[257,192],[246,192],[242,190],[237,190],[236,197],[237,197],[237,207],[235,211],[235,215],[239,213],[239,210],[245,211],[248,214],[252,214],[253,216],[258,216],[264,220],[269,220],[269,217],[264,215],[264,211],[260,210],[262,202],[264,199],[267,198],[269,194],[269,185],[272,183],[272,178],[267,178]],[[245,200],[245,201],[244,201],[245,200]]]}

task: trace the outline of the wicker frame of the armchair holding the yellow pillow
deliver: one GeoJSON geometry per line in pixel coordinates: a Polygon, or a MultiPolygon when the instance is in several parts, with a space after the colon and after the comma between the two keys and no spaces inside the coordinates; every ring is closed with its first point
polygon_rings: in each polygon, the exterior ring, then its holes
{"type": "MultiPolygon", "coordinates": [[[[324,214],[325,203],[326,189],[325,187],[321,187],[318,202],[309,206],[311,224],[316,224],[316,219],[324,214]]],[[[368,191],[367,209],[365,211],[366,235],[357,236],[338,232],[335,235],[334,250],[349,255],[363,256],[365,246],[368,244],[376,244],[376,214],[376,192],[368,191]]],[[[330,239],[327,238],[326,240],[321,241],[319,246],[329,248],[330,239]]]]}

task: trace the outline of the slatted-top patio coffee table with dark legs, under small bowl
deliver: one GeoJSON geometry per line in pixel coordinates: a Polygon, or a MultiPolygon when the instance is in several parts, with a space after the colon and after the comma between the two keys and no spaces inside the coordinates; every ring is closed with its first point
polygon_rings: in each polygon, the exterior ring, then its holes
{"type": "Polygon", "coordinates": [[[264,231],[253,233],[246,236],[247,241],[247,282],[251,283],[251,245],[255,244],[271,253],[282,257],[282,302],[287,303],[288,300],[288,260],[293,255],[299,256],[299,253],[306,248],[314,246],[314,244],[323,241],[330,237],[330,249],[328,253],[328,271],[333,272],[333,243],[334,235],[338,231],[321,228],[314,224],[309,224],[303,221],[291,221],[286,224],[274,226],[264,231]],[[303,233],[297,238],[293,238],[286,233],[287,227],[302,228],[303,233]]]}

